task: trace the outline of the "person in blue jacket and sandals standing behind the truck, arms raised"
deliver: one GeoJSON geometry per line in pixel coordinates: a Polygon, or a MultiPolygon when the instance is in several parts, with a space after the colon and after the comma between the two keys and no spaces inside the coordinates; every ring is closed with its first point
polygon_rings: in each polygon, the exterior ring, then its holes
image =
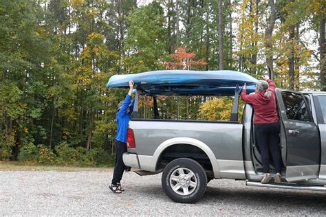
{"type": "Polygon", "coordinates": [[[113,193],[120,194],[124,190],[121,188],[120,181],[124,172],[124,165],[122,161],[122,155],[127,152],[127,130],[129,121],[131,121],[131,113],[133,112],[133,102],[131,101],[131,95],[133,93],[134,82],[129,81],[129,93],[124,98],[124,101],[118,104],[118,112],[116,113],[117,121],[117,136],[116,136],[116,165],[114,165],[113,178],[110,190],[113,193]]]}

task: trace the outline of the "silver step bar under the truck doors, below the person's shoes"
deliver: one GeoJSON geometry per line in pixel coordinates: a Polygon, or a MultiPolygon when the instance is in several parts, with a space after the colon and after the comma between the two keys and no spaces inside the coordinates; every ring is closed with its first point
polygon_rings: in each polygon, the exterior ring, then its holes
{"type": "Polygon", "coordinates": [[[261,184],[260,182],[257,181],[246,181],[246,185],[252,187],[274,187],[274,188],[283,188],[283,189],[292,189],[292,190],[311,190],[311,191],[326,192],[326,187],[314,186],[314,185],[298,185],[298,184],[290,184],[290,183],[261,184]]]}

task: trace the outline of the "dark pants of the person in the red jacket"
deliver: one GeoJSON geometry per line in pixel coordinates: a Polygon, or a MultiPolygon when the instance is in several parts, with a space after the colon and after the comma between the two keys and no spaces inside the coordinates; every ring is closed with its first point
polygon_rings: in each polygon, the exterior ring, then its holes
{"type": "Polygon", "coordinates": [[[281,146],[280,146],[280,124],[254,124],[256,141],[261,151],[263,161],[263,172],[270,172],[270,154],[274,162],[275,172],[281,173],[281,146]]]}

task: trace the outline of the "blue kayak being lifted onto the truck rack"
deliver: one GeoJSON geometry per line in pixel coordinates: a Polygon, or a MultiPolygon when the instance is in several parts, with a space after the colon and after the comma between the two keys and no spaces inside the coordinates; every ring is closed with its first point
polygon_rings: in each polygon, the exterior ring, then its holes
{"type": "Polygon", "coordinates": [[[108,88],[127,88],[133,80],[137,89],[151,95],[234,95],[247,84],[247,92],[254,92],[257,79],[239,71],[162,70],[111,76],[108,88]]]}

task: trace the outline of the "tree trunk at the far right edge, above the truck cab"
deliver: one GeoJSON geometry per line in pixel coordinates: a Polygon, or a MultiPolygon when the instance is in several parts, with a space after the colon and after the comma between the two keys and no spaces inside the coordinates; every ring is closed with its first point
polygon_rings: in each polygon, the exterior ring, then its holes
{"type": "Polygon", "coordinates": [[[319,49],[320,49],[320,90],[326,91],[326,49],[325,49],[325,19],[321,19],[319,32],[319,49]]]}

